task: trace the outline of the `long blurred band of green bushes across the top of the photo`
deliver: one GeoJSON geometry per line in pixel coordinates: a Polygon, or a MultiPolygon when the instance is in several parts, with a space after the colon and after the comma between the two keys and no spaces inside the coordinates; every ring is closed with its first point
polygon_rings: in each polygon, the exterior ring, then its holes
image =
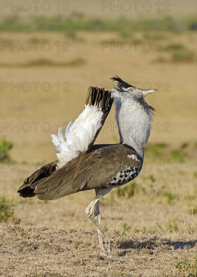
{"type": "Polygon", "coordinates": [[[82,14],[73,13],[70,16],[32,17],[27,22],[16,15],[2,21],[1,31],[9,32],[36,32],[59,31],[74,34],[76,31],[120,32],[128,36],[138,31],[195,31],[195,18],[175,20],[172,17],[130,20],[124,17],[118,19],[86,19],[82,14]],[[123,31],[124,30],[124,33],[123,31]]]}

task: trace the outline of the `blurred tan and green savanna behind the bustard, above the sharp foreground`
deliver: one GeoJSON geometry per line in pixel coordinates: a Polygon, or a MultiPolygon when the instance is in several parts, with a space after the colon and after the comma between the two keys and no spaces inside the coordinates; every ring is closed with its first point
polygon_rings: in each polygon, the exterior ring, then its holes
{"type": "MultiPolygon", "coordinates": [[[[17,189],[56,159],[50,134],[79,115],[88,87],[111,89],[118,75],[158,92],[146,99],[156,112],[144,168],[103,198],[104,226],[192,230],[195,11],[195,1],[1,2],[1,221],[92,227],[84,210],[94,191],[44,203],[21,198],[17,189]]],[[[118,142],[113,108],[96,143],[118,142]]]]}

